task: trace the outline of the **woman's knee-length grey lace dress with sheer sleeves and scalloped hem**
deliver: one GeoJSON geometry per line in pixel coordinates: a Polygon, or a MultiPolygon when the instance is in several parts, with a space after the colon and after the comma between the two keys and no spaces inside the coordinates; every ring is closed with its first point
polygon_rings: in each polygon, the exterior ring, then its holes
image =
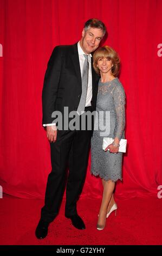
{"type": "Polygon", "coordinates": [[[104,180],[122,180],[122,153],[102,149],[103,137],[125,138],[125,91],[118,78],[106,83],[99,81],[94,132],[91,141],[91,170],[104,180]],[[109,113],[106,115],[106,112],[109,113]],[[102,125],[101,125],[102,124],[102,125]],[[109,129],[103,130],[103,127],[109,129]],[[107,131],[108,130],[108,131],[107,131]]]}

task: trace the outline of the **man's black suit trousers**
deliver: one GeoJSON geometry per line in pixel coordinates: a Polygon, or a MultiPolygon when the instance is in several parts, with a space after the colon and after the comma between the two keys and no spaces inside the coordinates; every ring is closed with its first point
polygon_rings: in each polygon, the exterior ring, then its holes
{"type": "Polygon", "coordinates": [[[55,143],[50,143],[52,170],[48,176],[45,205],[41,218],[48,222],[54,220],[59,212],[66,170],[69,166],[66,188],[67,217],[77,214],[76,202],[82,192],[90,149],[92,130],[58,131],[55,143]]]}

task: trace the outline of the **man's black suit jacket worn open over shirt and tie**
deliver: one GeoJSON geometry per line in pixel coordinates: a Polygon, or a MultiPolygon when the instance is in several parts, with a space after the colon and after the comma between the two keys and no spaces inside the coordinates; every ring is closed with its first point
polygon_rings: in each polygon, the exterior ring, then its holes
{"type": "MultiPolygon", "coordinates": [[[[93,63],[93,60],[92,60],[93,63]]],[[[92,109],[96,108],[99,76],[92,66],[92,109]]],[[[42,92],[42,124],[54,121],[51,114],[64,107],[76,111],[82,93],[81,71],[77,43],[74,45],[56,46],[48,62],[42,92]]]]}

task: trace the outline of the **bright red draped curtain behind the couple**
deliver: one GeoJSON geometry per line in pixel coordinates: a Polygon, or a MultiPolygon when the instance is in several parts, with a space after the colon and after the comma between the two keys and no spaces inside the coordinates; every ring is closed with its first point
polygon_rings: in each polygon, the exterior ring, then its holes
{"type": "MultiPolygon", "coordinates": [[[[157,197],[161,172],[161,0],[0,0],[0,184],[3,192],[43,198],[51,170],[41,94],[56,45],[80,40],[86,20],[105,22],[121,58],[127,153],[116,197],[157,197]],[[0,54],[1,56],[1,54],[0,54]]],[[[97,156],[96,156],[97,157],[97,156]]],[[[87,169],[82,196],[101,196],[87,169]]]]}

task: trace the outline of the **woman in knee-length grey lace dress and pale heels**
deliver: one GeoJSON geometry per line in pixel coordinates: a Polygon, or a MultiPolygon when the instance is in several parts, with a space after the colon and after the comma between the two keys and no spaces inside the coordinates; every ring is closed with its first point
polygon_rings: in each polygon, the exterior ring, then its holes
{"type": "Polygon", "coordinates": [[[98,48],[93,55],[93,66],[101,76],[96,105],[95,127],[91,143],[91,173],[100,176],[103,185],[102,203],[97,229],[105,228],[106,218],[118,208],[114,201],[115,182],[121,180],[122,153],[119,142],[124,138],[125,92],[119,79],[120,59],[109,46],[98,48]],[[102,150],[103,137],[113,143],[102,150]]]}

